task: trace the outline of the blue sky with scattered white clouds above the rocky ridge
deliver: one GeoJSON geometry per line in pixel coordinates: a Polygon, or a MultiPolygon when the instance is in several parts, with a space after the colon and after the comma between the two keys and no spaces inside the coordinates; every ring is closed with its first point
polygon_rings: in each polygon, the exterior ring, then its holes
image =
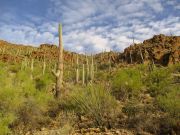
{"type": "Polygon", "coordinates": [[[0,39],[66,50],[123,51],[155,34],[180,35],[180,0],[0,0],[0,39]]]}

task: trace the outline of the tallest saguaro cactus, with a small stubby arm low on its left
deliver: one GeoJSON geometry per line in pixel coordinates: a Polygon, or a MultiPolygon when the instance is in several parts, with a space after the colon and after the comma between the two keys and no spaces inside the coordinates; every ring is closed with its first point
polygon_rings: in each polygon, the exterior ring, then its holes
{"type": "Polygon", "coordinates": [[[56,93],[55,97],[59,98],[62,84],[63,84],[63,41],[62,41],[62,25],[59,24],[59,48],[58,48],[58,67],[57,70],[53,70],[53,74],[56,77],[56,93]]]}

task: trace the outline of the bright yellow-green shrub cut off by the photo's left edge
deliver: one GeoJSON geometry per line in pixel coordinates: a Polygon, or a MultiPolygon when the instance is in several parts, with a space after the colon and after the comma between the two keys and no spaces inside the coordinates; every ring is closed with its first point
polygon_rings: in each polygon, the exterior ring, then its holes
{"type": "Polygon", "coordinates": [[[16,118],[15,111],[22,104],[19,91],[13,88],[11,75],[7,69],[0,71],[0,134],[10,133],[9,125],[16,118]]]}

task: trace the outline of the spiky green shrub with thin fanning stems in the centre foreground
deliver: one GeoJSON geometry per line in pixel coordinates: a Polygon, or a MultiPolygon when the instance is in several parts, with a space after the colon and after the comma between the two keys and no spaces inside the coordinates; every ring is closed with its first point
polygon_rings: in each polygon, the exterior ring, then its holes
{"type": "Polygon", "coordinates": [[[116,100],[102,86],[89,86],[86,89],[72,91],[66,108],[78,115],[85,115],[94,121],[95,126],[104,126],[115,113],[116,100]]]}

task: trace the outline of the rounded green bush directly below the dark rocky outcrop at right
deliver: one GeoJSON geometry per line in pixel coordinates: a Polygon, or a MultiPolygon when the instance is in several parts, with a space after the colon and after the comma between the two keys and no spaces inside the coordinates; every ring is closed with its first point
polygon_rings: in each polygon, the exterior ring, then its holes
{"type": "Polygon", "coordinates": [[[166,94],[172,83],[171,72],[167,68],[156,68],[148,74],[145,83],[151,96],[166,94]]]}

